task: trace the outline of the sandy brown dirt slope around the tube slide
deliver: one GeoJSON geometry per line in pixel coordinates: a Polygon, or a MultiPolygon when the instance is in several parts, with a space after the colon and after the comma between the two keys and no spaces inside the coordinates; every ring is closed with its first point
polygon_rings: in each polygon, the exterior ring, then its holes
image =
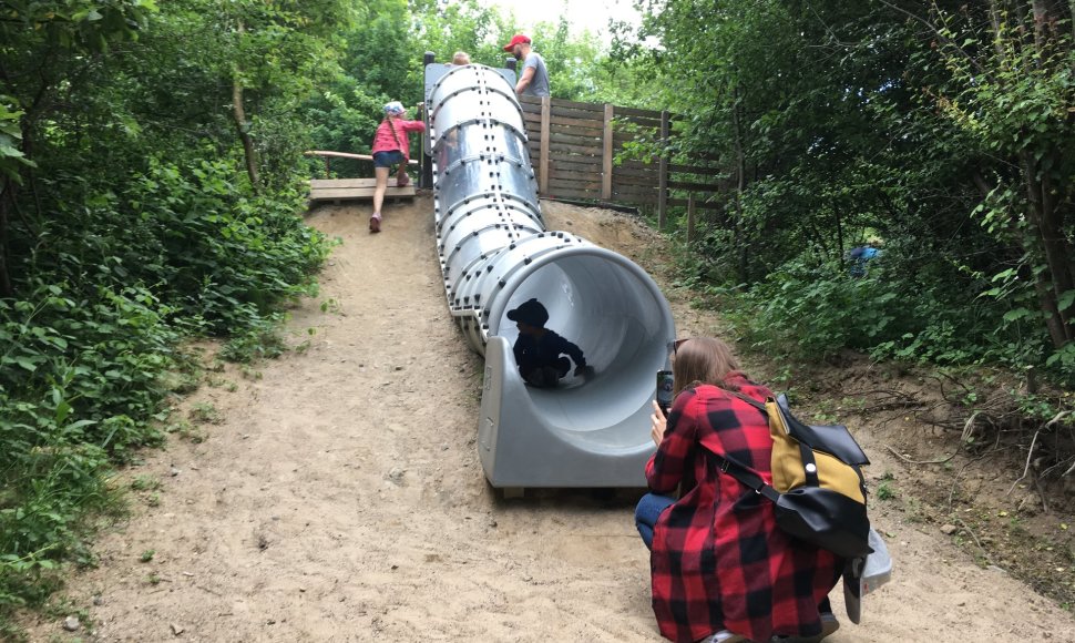
{"type": "MultiPolygon", "coordinates": [[[[124,473],[161,487],[102,535],[100,567],[70,581],[83,630],[60,618],[34,624],[34,641],[659,640],[637,493],[504,501],[487,486],[474,447],[482,364],[448,315],[431,207],[388,207],[379,235],[368,207],[309,216],[342,244],[321,296],[293,312],[290,341],[305,350],[259,365],[259,379],[229,369],[235,390],[184,402],[223,419],[124,473]]],[[[543,207],[550,228],[655,267],[657,239],[632,220],[543,207]]],[[[686,302],[673,309],[683,335],[716,328],[686,302]]],[[[860,437],[880,474],[883,449],[860,437]]],[[[1071,615],[980,569],[935,527],[883,503],[873,518],[895,575],[832,643],[1075,641],[1071,615]]]]}

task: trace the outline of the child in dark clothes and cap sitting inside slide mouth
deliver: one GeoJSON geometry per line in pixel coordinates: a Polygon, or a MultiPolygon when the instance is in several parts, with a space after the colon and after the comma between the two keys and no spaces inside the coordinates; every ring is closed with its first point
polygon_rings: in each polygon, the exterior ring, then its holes
{"type": "Polygon", "coordinates": [[[519,339],[512,347],[519,374],[526,384],[552,387],[571,370],[571,356],[575,361],[575,375],[586,372],[586,358],[582,349],[567,341],[554,330],[545,328],[549,312],[538,299],[528,299],[508,312],[508,318],[519,328],[519,339]]]}

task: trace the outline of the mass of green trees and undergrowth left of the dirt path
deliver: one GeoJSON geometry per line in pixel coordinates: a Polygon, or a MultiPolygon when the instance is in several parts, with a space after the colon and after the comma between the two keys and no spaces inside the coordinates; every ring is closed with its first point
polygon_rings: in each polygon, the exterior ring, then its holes
{"type": "Polygon", "coordinates": [[[110,466],[160,442],[175,345],[214,334],[236,358],[269,354],[280,304],[314,287],[327,245],[298,216],[298,106],[335,69],[351,4],[4,11],[0,637],[53,569],[89,560],[110,466]]]}

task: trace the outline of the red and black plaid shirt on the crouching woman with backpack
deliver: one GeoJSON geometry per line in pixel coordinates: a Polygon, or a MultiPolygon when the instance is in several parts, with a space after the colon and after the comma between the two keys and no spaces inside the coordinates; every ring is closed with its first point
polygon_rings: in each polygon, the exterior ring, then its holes
{"type": "MultiPolygon", "coordinates": [[[[741,372],[726,382],[758,401],[772,395],[741,372]]],[[[676,398],[646,466],[653,491],[680,489],[657,521],[649,559],[661,633],[685,642],[720,630],[752,641],[819,633],[818,603],[836,584],[841,561],[792,541],[777,527],[772,503],[721,473],[706,449],[772,481],[772,439],[758,409],[710,385],[676,398]]]]}

